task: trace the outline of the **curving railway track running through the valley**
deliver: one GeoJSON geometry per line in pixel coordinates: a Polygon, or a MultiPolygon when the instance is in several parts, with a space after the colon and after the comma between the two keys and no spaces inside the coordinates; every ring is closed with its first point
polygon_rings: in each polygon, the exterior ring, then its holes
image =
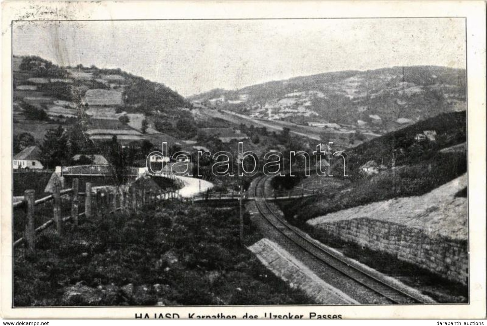
{"type": "Polygon", "coordinates": [[[299,246],[303,251],[311,254],[321,263],[332,267],[368,290],[386,298],[393,304],[431,303],[429,300],[425,299],[424,296],[405,289],[399,289],[399,287],[391,284],[388,280],[380,279],[381,277],[373,275],[370,271],[360,268],[359,265],[347,261],[347,259],[337,255],[325,246],[316,244],[309,239],[304,232],[289,225],[287,221],[274,212],[265,199],[265,180],[267,179],[268,177],[257,178],[254,189],[251,189],[251,191],[254,192],[253,195],[255,195],[257,209],[262,217],[264,217],[275,229],[299,246]]]}

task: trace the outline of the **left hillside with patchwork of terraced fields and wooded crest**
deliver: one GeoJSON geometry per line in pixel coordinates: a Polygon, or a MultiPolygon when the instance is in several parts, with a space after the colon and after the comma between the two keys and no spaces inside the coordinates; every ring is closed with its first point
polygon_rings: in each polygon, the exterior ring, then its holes
{"type": "Polygon", "coordinates": [[[103,129],[120,136],[127,129],[141,133],[123,135],[120,141],[124,143],[141,138],[155,144],[161,139],[172,143],[175,139],[165,130],[155,130],[156,120],[184,117],[192,121],[192,105],[183,96],[120,69],[59,67],[38,56],[14,56],[13,85],[14,133],[32,134],[37,142],[58,124],[67,129],[82,124],[83,129],[103,129]],[[142,130],[144,120],[148,125],[142,130]]]}

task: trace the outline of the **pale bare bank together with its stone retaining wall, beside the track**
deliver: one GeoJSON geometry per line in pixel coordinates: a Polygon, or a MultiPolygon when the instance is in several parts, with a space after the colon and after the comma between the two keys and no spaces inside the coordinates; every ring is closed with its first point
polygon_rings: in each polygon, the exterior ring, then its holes
{"type": "Polygon", "coordinates": [[[345,209],[307,221],[319,239],[383,252],[450,281],[468,284],[467,175],[422,196],[345,209]]]}

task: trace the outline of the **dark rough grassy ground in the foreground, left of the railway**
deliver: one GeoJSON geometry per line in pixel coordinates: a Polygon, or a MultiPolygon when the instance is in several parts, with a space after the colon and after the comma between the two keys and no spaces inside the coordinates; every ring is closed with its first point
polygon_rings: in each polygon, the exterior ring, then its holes
{"type": "MultiPolygon", "coordinates": [[[[77,233],[67,224],[65,236],[37,237],[37,258],[16,251],[15,305],[309,304],[240,244],[238,223],[236,207],[166,201],[136,215],[86,221],[77,233]],[[163,258],[168,251],[176,262],[163,258]],[[122,289],[129,284],[137,289],[132,295],[122,289]],[[72,287],[93,294],[94,301],[63,298],[72,287]]],[[[245,234],[252,237],[248,244],[258,239],[248,225],[245,234]]]]}

